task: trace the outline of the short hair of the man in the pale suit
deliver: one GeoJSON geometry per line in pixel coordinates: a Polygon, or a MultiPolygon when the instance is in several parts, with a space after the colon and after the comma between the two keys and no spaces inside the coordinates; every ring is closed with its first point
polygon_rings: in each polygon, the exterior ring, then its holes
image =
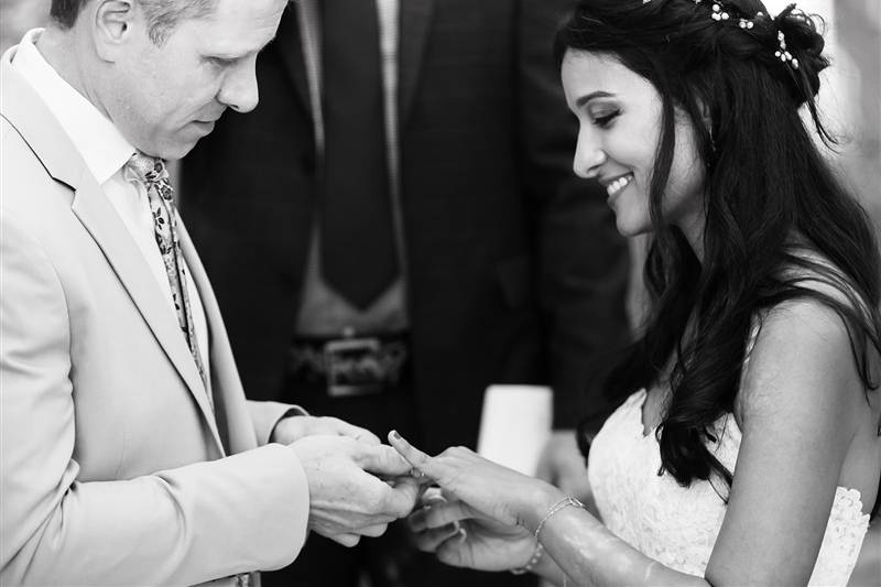
{"type": "MultiPolygon", "coordinates": [[[[50,15],[63,29],[76,23],[79,12],[90,0],[52,0],[50,15]]],[[[174,26],[184,19],[207,17],[216,0],[134,0],[148,21],[148,33],[153,43],[161,45],[174,26]]]]}

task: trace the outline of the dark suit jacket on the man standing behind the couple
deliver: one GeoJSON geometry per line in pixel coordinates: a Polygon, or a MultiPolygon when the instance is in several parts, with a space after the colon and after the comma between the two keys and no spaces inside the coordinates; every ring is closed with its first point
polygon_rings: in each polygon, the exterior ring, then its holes
{"type": "MultiPolygon", "coordinates": [[[[568,3],[401,2],[407,312],[429,452],[474,446],[493,382],[553,384],[555,424],[573,426],[592,401],[577,403],[589,359],[627,337],[626,246],[605,192],[572,174],[576,122],[551,55],[568,3]]],[[[186,157],[182,208],[247,393],[278,399],[318,173],[293,9],[258,80],[258,108],[227,113],[186,157]]]]}

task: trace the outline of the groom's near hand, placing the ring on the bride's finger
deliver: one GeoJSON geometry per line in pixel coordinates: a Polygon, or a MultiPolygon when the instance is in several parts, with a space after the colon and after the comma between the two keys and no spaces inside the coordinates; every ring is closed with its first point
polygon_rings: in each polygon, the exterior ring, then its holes
{"type": "Polygon", "coordinates": [[[381,535],[416,503],[411,466],[390,446],[314,435],[291,448],[309,483],[309,530],[344,546],[355,546],[361,535],[381,535]]]}

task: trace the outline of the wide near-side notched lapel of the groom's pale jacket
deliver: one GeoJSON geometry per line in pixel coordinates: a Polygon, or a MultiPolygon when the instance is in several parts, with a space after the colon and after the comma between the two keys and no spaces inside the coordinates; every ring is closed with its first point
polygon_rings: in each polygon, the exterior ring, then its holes
{"type": "Polygon", "coordinates": [[[40,95],[10,65],[11,51],[3,56],[0,64],[3,78],[0,102],[3,118],[24,138],[48,174],[74,191],[74,215],[101,249],[112,271],[195,398],[220,446],[205,385],[168,303],[162,296],[131,235],[64,129],[44,106],[40,95]]]}

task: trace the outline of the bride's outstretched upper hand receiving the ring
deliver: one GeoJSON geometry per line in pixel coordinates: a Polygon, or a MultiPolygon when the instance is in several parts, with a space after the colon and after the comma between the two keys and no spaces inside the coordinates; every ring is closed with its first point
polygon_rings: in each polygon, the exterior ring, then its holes
{"type": "Polygon", "coordinates": [[[532,532],[540,512],[564,497],[545,481],[488,460],[464,447],[447,448],[429,457],[396,432],[389,442],[413,468],[434,480],[444,493],[464,502],[475,513],[532,532]]]}

